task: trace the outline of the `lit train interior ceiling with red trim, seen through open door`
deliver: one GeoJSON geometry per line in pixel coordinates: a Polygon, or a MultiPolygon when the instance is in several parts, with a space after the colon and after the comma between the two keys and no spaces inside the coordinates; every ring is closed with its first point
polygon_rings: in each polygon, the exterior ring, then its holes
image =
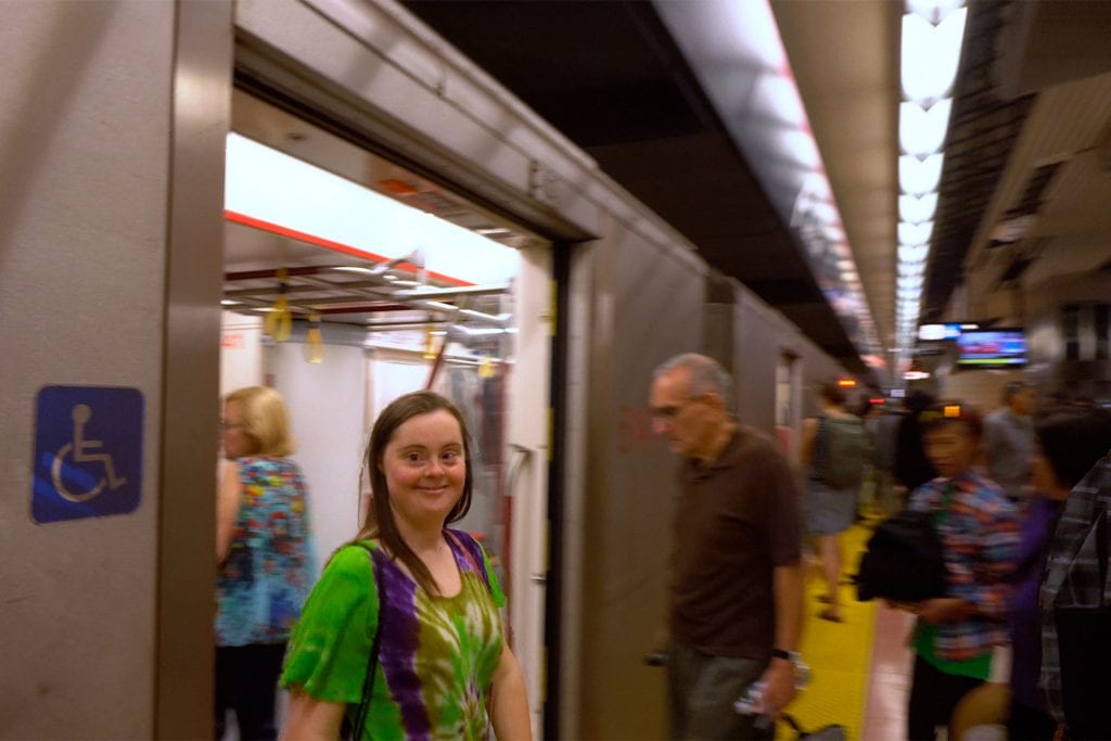
{"type": "Polygon", "coordinates": [[[284,297],[296,321],[402,343],[424,332],[420,348],[429,331],[472,350],[496,349],[479,338],[511,331],[513,252],[534,237],[238,90],[233,131],[227,310],[264,317],[284,297]]]}

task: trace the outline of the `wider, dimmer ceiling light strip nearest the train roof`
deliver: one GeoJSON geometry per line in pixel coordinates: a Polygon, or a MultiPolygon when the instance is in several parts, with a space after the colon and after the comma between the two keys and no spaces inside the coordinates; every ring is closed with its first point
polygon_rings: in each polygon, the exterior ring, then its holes
{"type": "Polygon", "coordinates": [[[811,273],[860,358],[879,358],[875,322],[859,280],[851,280],[857,276],[855,257],[771,1],[652,0],[652,6],[692,62],[757,178],[773,193],[773,208],[801,243],[811,273]],[[702,73],[711,69],[712,74],[702,73]],[[839,268],[839,260],[853,268],[839,268]]]}

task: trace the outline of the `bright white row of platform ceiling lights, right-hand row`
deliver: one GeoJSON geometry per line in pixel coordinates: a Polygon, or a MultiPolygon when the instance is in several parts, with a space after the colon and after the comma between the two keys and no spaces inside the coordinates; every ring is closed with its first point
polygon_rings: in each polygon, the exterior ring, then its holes
{"type": "Polygon", "coordinates": [[[900,59],[895,368],[910,368],[960,69],[964,0],[907,0],[900,59]]]}

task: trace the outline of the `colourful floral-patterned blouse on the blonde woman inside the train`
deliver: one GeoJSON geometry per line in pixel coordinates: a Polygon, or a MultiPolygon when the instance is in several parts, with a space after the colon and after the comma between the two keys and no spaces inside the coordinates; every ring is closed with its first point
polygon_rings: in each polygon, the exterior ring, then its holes
{"type": "Polygon", "coordinates": [[[288,458],[237,463],[239,517],[217,581],[217,643],[283,643],[312,584],[304,479],[288,458]]]}

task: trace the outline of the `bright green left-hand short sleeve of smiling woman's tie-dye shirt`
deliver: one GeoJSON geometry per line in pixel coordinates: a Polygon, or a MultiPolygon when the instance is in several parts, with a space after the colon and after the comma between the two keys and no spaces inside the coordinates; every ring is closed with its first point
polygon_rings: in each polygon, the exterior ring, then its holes
{"type": "Polygon", "coordinates": [[[281,685],[328,702],[359,702],[377,625],[371,555],[346,547],[329,562],[301,612],[281,685]]]}

